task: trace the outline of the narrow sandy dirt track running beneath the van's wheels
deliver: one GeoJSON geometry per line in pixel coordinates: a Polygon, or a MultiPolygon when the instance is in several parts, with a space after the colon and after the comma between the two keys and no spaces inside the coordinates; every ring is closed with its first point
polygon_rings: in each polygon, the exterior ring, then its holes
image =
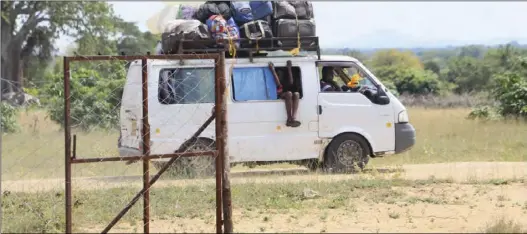
{"type": "MultiPolygon", "coordinates": [[[[352,178],[385,178],[426,180],[430,178],[449,179],[455,182],[488,181],[495,179],[527,178],[527,162],[462,162],[403,165],[368,169],[363,174],[327,175],[308,173],[307,169],[273,169],[235,172],[232,184],[243,183],[286,183],[295,181],[338,181],[352,178]],[[287,175],[287,176],[284,176],[287,175]]],[[[141,176],[123,177],[80,177],[74,178],[73,189],[95,190],[113,187],[141,187],[141,176]]],[[[213,179],[201,180],[199,184],[214,183],[213,179]]],[[[195,180],[160,179],[155,187],[186,186],[196,184],[195,180]]],[[[12,192],[43,192],[63,190],[64,179],[11,180],[2,181],[2,190],[12,192]]]]}

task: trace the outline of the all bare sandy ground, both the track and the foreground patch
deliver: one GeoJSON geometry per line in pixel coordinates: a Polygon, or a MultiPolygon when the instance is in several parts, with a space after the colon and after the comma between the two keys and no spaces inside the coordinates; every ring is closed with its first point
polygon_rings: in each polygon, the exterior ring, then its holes
{"type": "MultiPolygon", "coordinates": [[[[275,171],[276,172],[276,171],[275,171]]],[[[400,194],[371,200],[371,194],[347,198],[346,205],[336,209],[313,208],[302,210],[242,210],[233,204],[235,232],[481,232],[486,225],[508,218],[527,227],[527,184],[463,182],[527,179],[527,163],[442,163],[405,165],[397,168],[372,169],[364,174],[322,175],[289,170],[287,176],[263,175],[257,171],[237,173],[232,184],[287,183],[295,181],[339,181],[350,178],[398,178],[408,180],[450,179],[455,183],[431,184],[425,187],[392,187],[400,194]]],[[[214,183],[206,180],[200,183],[214,183]]],[[[155,187],[185,186],[194,180],[160,180],[155,187]]],[[[63,179],[2,181],[2,190],[40,192],[62,190],[63,179]]],[[[106,189],[121,186],[142,186],[140,177],[76,178],[74,189],[106,189]]],[[[324,199],[324,198],[321,198],[324,199]]],[[[150,223],[151,232],[211,233],[214,232],[213,213],[194,219],[156,219],[150,223]]],[[[100,232],[104,226],[90,226],[86,232],[100,232]]],[[[119,222],[113,233],[143,232],[142,222],[119,222]]]]}

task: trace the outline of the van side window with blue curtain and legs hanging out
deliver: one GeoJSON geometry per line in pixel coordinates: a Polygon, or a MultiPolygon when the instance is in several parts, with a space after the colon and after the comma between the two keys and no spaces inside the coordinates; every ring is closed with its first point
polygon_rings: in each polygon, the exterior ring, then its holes
{"type": "MultiPolygon", "coordinates": [[[[284,84],[287,79],[287,67],[275,67],[284,84]]],[[[300,68],[292,67],[294,85],[298,85],[302,98],[300,68]]],[[[269,67],[234,68],[232,73],[232,89],[235,101],[270,101],[279,100],[276,82],[269,67]]]]}

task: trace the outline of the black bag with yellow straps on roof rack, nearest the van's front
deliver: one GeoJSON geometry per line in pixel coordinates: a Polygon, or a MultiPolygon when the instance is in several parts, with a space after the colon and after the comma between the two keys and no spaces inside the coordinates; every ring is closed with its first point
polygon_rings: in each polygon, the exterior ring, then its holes
{"type": "MultiPolygon", "coordinates": [[[[315,20],[298,20],[294,19],[279,19],[275,21],[274,32],[275,37],[314,37],[316,36],[315,20]]],[[[313,42],[311,39],[302,40],[302,45],[310,45],[313,42]]],[[[297,40],[278,41],[278,46],[295,47],[298,45],[297,40]]]]}

